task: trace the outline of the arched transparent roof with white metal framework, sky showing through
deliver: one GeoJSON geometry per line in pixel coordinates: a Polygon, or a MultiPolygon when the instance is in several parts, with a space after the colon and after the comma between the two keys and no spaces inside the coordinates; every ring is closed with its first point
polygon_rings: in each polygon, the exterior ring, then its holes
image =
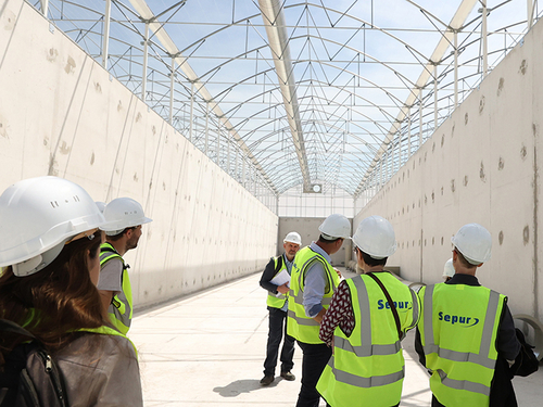
{"type": "MultiPolygon", "coordinates": [[[[101,61],[104,1],[48,7],[101,61]]],[[[356,196],[431,136],[530,14],[526,0],[112,0],[110,15],[106,68],[229,171],[236,161],[235,177],[239,155],[275,195],[325,181],[356,196]]]]}

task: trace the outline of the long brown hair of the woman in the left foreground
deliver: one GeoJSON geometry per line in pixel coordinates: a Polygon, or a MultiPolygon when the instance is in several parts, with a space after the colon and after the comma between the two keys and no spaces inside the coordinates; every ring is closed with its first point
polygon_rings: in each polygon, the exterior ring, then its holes
{"type": "Polygon", "coordinates": [[[73,241],[31,276],[16,277],[8,267],[0,277],[0,316],[24,326],[52,353],[79,336],[78,329],[109,325],[87,257],[98,260],[100,243],[99,232],[73,241]]]}

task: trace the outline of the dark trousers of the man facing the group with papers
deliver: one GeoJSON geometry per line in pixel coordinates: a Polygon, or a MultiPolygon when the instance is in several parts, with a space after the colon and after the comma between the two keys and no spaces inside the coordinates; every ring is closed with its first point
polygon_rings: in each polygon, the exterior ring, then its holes
{"type": "Polygon", "coordinates": [[[264,360],[264,374],[275,376],[279,345],[285,332],[285,341],[281,349],[281,372],[291,371],[294,363],[294,339],[287,334],[287,313],[279,308],[269,309],[268,345],[266,349],[266,360],[264,360]]]}

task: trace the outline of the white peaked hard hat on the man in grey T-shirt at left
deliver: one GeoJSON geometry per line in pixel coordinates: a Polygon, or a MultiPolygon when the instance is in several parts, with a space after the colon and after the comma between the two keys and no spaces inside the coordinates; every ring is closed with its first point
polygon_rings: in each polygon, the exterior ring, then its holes
{"type": "Polygon", "coordinates": [[[153,221],[153,219],[146,217],[141,205],[131,198],[117,198],[111,201],[105,205],[103,216],[109,225],[102,230],[104,230],[108,236],[115,236],[126,228],[153,221]]]}

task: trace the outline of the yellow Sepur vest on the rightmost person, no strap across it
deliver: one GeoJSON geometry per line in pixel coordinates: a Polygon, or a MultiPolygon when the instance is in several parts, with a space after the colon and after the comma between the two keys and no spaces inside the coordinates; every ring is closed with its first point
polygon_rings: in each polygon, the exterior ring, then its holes
{"type": "Polygon", "coordinates": [[[422,287],[420,339],[430,389],[445,406],[488,406],[505,295],[485,287],[422,287]]]}

